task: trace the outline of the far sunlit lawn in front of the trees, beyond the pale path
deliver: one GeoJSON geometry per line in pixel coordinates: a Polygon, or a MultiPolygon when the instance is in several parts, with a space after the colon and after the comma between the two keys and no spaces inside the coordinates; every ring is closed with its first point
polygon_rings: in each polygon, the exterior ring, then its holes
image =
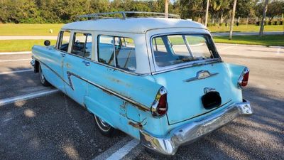
{"type": "MultiPolygon", "coordinates": [[[[58,31],[63,24],[0,24],[0,36],[57,36],[58,31]],[[50,33],[50,29],[53,33],[50,33]]],[[[234,31],[259,31],[260,26],[255,25],[242,25],[234,26],[234,31]]],[[[217,27],[210,26],[209,30],[212,32],[226,32],[229,31],[229,26],[217,27]]],[[[284,27],[280,25],[265,26],[264,31],[283,31],[284,27]]]]}

